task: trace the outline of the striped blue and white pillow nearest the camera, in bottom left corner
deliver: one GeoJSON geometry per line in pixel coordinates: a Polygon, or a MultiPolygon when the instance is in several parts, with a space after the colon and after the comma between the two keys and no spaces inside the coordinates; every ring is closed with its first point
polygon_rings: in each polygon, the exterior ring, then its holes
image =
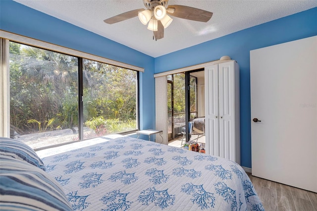
{"type": "Polygon", "coordinates": [[[0,210],[72,211],[57,181],[42,169],[0,156],[0,210]]]}

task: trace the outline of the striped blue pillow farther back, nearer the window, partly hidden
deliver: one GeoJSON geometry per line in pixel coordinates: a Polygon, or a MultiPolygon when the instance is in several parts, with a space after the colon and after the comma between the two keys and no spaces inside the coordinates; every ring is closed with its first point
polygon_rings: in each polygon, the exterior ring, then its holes
{"type": "Polygon", "coordinates": [[[0,137],[0,155],[25,160],[26,162],[45,170],[42,159],[38,157],[35,151],[28,145],[16,139],[0,137]]]}

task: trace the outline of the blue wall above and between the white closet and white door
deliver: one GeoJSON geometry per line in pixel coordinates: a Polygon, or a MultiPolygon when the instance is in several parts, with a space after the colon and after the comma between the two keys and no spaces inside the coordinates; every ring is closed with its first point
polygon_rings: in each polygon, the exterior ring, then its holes
{"type": "Polygon", "coordinates": [[[155,73],[216,60],[223,55],[236,60],[240,66],[241,165],[251,168],[250,51],[315,35],[317,7],[157,57],[155,73]]]}

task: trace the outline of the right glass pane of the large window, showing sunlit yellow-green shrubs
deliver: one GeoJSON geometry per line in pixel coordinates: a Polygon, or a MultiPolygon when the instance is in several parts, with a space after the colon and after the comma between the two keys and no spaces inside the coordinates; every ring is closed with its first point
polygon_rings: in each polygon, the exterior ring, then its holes
{"type": "Polygon", "coordinates": [[[137,128],[137,71],[83,59],[84,139],[137,128]]]}

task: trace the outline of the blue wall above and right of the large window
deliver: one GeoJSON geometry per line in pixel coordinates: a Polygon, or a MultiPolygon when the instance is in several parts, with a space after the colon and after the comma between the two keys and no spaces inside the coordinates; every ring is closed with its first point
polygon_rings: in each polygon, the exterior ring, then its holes
{"type": "Polygon", "coordinates": [[[12,0],[0,0],[0,29],[143,67],[140,129],[155,127],[154,58],[12,0]]]}

